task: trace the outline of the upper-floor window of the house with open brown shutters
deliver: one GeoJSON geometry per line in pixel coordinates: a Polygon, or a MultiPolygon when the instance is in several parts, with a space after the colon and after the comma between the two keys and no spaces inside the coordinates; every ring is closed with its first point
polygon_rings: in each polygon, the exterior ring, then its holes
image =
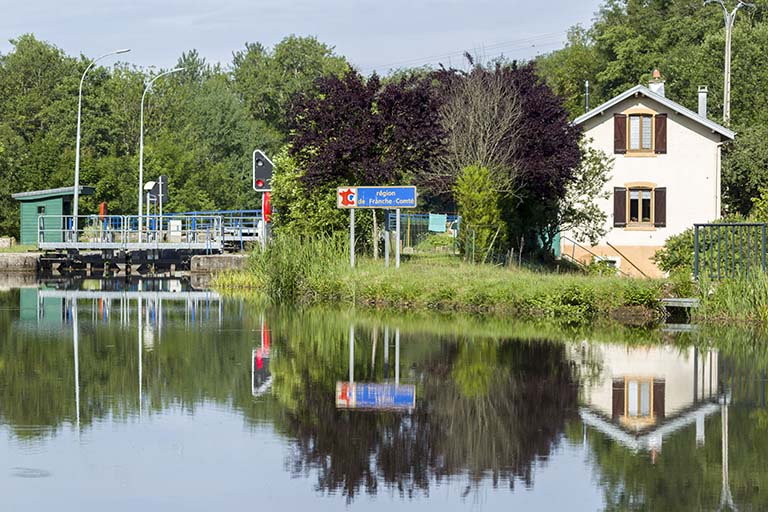
{"type": "Polygon", "coordinates": [[[613,116],[613,152],[616,154],[665,154],[667,115],[642,109],[613,116]]]}

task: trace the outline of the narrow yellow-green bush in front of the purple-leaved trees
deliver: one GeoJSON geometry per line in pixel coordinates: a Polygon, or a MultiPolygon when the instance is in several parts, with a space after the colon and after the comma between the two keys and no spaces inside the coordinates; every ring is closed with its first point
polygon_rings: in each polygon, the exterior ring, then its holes
{"type": "Polygon", "coordinates": [[[461,215],[460,248],[465,256],[485,261],[494,246],[503,245],[505,237],[499,194],[488,168],[479,165],[464,168],[456,181],[454,195],[461,215]]]}

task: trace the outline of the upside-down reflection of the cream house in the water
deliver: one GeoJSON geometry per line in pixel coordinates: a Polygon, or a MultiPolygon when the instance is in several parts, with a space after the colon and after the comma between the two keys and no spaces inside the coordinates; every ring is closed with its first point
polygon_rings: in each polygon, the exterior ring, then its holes
{"type": "Polygon", "coordinates": [[[637,450],[661,449],[664,437],[696,424],[704,441],[704,418],[719,410],[718,355],[695,347],[589,345],[572,351],[602,371],[587,379],[580,409],[585,424],[637,450]]]}

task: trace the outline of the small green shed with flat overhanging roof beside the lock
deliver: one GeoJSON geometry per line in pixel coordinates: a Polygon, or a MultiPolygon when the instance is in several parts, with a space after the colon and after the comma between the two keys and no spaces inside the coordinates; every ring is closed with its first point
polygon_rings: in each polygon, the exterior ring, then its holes
{"type": "MultiPolygon", "coordinates": [[[[80,187],[81,196],[89,196],[94,192],[93,187],[80,187]]],[[[40,215],[53,216],[46,220],[45,241],[62,242],[64,216],[72,215],[72,198],[74,195],[75,187],[33,190],[13,194],[11,197],[20,203],[20,243],[22,245],[37,245],[37,220],[40,215]]]]}

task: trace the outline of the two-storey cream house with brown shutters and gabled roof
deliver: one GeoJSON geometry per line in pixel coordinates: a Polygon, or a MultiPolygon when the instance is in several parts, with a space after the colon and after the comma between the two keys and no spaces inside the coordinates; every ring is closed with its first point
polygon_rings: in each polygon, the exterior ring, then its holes
{"type": "Polygon", "coordinates": [[[697,114],[666,98],[654,76],[649,87],[637,85],[574,121],[614,167],[610,198],[600,200],[607,234],[589,247],[562,233],[564,257],[604,258],[627,274],[657,277],[651,258],[667,238],[720,216],[721,146],[735,134],[707,119],[706,87],[697,114]]]}

